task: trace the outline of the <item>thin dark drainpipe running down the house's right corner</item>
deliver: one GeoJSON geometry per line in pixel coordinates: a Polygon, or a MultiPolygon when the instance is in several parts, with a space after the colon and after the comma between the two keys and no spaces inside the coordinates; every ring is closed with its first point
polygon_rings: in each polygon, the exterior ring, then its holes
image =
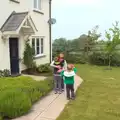
{"type": "MultiPolygon", "coordinates": [[[[51,2],[49,0],[49,20],[51,20],[51,2]]],[[[51,24],[49,23],[49,43],[50,43],[50,63],[52,62],[52,37],[51,37],[51,24]]]]}

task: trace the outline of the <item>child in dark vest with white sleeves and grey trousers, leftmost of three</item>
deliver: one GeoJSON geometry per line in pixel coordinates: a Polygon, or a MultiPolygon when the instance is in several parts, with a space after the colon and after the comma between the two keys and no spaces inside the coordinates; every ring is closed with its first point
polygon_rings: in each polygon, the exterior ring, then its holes
{"type": "Polygon", "coordinates": [[[55,57],[54,61],[52,61],[52,63],[50,64],[51,67],[54,68],[54,90],[55,90],[55,94],[57,94],[59,92],[59,94],[62,93],[62,87],[61,87],[61,82],[62,82],[62,78],[60,75],[60,72],[62,71],[61,69],[61,65],[60,65],[60,61],[58,57],[55,57]]]}

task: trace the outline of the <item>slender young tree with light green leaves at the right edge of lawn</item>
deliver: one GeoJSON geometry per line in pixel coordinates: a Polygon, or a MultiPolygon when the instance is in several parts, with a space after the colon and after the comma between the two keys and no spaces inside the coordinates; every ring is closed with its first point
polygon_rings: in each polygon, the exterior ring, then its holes
{"type": "Polygon", "coordinates": [[[119,28],[119,23],[115,22],[113,24],[113,28],[110,28],[109,31],[106,31],[106,46],[105,46],[105,52],[108,54],[108,66],[109,68],[111,67],[111,57],[113,56],[116,46],[120,44],[120,28],[119,28]]]}

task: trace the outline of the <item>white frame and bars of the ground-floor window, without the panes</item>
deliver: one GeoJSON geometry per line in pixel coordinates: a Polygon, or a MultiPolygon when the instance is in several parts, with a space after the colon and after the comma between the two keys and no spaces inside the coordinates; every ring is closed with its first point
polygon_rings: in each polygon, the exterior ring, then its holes
{"type": "Polygon", "coordinates": [[[35,52],[35,57],[40,57],[40,56],[44,56],[44,37],[41,37],[41,36],[33,36],[31,37],[31,46],[33,47],[32,45],[32,41],[33,39],[35,40],[34,42],[34,45],[35,45],[35,49],[34,49],[34,52],[35,52]],[[39,54],[37,54],[37,39],[39,39],[39,54]],[[43,40],[43,46],[41,45],[41,41],[43,40]],[[43,47],[43,52],[42,52],[42,47],[43,47]]]}

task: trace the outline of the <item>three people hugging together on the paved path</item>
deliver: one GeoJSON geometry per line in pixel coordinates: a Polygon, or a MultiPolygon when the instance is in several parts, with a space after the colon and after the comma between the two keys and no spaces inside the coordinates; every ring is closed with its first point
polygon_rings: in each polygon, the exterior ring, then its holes
{"type": "Polygon", "coordinates": [[[50,66],[53,67],[55,94],[61,94],[66,88],[67,99],[74,100],[74,76],[77,71],[74,65],[67,64],[64,54],[60,53],[59,56],[54,58],[50,66]]]}

